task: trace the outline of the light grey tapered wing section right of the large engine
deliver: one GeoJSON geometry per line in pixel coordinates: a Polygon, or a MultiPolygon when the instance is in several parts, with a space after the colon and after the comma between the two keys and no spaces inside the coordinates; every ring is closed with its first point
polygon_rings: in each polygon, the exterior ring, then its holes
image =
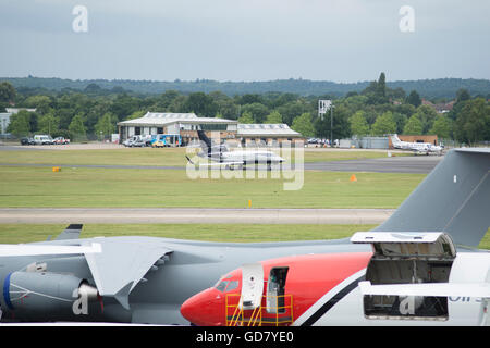
{"type": "Polygon", "coordinates": [[[100,238],[102,251],[86,253],[94,282],[101,296],[114,297],[128,309],[128,295],[144,275],[157,264],[164,262],[172,252],[162,246],[151,246],[138,240],[114,240],[100,238]]]}

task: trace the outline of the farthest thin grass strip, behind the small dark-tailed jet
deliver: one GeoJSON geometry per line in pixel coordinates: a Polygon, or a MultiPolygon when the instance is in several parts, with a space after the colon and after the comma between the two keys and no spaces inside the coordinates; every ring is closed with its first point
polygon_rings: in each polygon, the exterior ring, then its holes
{"type": "MultiPolygon", "coordinates": [[[[185,166],[185,148],[0,151],[0,163],[185,166]]],[[[294,156],[294,149],[292,150],[292,154],[294,156]]],[[[305,150],[305,162],[328,162],[382,157],[387,157],[387,153],[356,150],[305,150]]]]}

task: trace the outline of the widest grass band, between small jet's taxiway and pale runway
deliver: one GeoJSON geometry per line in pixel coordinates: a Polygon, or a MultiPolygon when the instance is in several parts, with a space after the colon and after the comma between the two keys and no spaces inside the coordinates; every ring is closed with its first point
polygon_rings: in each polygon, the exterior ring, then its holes
{"type": "MultiPolygon", "coordinates": [[[[61,151],[60,151],[61,152],[61,151]]],[[[71,152],[71,151],[70,151],[71,152]]],[[[185,171],[0,167],[0,207],[194,208],[397,208],[424,174],[305,171],[301,190],[292,179],[198,178],[185,171]]],[[[256,173],[256,175],[259,175],[256,173]]]]}

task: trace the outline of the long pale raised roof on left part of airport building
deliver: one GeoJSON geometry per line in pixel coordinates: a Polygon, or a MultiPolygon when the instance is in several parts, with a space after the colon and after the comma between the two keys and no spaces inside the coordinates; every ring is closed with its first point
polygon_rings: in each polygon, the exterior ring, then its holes
{"type": "Polygon", "coordinates": [[[216,119],[216,117],[198,117],[195,113],[170,113],[170,112],[147,112],[143,117],[119,122],[118,125],[133,126],[161,126],[171,123],[212,123],[212,124],[237,124],[238,121],[216,119]]]}

